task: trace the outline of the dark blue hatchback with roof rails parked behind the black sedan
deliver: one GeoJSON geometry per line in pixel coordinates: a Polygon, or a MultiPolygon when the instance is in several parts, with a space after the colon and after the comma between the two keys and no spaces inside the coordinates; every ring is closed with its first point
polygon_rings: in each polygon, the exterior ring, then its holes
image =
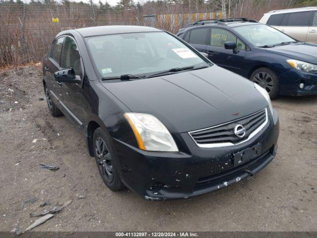
{"type": "Polygon", "coordinates": [[[217,65],[278,95],[317,95],[317,45],[246,18],[181,29],[177,36],[217,65]]]}

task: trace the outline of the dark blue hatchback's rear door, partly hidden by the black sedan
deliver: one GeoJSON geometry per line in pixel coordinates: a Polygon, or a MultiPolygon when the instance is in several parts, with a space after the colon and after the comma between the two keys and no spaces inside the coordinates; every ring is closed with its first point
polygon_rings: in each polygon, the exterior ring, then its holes
{"type": "Polygon", "coordinates": [[[195,28],[187,32],[185,40],[199,52],[205,52],[209,35],[210,27],[195,28]]]}

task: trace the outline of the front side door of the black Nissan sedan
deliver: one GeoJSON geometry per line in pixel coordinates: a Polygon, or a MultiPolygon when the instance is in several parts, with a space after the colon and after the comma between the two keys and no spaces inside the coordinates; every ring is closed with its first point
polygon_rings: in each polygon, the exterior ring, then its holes
{"type": "Polygon", "coordinates": [[[81,83],[60,84],[59,99],[61,106],[68,113],[68,118],[74,122],[80,131],[83,128],[82,114],[82,85],[83,85],[83,62],[81,60],[79,48],[74,38],[66,36],[61,54],[61,67],[73,68],[76,76],[81,78],[81,83]]]}

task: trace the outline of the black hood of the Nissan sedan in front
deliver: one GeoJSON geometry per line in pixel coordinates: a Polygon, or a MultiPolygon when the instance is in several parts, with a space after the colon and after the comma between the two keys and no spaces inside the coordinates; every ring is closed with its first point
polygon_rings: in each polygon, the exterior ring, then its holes
{"type": "Polygon", "coordinates": [[[102,84],[132,112],[154,115],[174,133],[221,124],[268,106],[251,81],[216,65],[102,84]]]}

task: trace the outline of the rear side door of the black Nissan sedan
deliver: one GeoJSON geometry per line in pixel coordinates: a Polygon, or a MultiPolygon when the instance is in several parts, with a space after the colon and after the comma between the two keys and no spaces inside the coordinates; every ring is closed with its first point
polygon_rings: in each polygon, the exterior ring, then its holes
{"type": "MultiPolygon", "coordinates": [[[[48,55],[48,58],[44,60],[44,70],[45,72],[45,78],[47,82],[47,87],[48,89],[53,92],[54,95],[59,94],[59,89],[60,89],[60,83],[58,83],[54,79],[54,72],[57,70],[61,69],[60,67],[60,56],[61,56],[61,50],[63,46],[65,37],[59,37],[56,38],[53,41],[50,53],[48,55]]],[[[52,100],[54,101],[55,104],[57,104],[57,99],[56,97],[52,97],[52,100]]]]}

